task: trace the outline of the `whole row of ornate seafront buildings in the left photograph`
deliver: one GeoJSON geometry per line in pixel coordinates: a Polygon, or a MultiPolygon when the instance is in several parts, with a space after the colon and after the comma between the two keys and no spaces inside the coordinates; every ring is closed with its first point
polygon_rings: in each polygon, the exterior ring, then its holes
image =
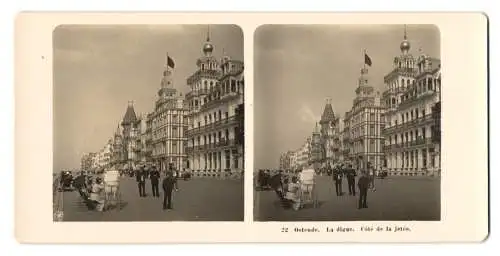
{"type": "Polygon", "coordinates": [[[174,86],[176,64],[167,55],[152,111],[136,115],[129,102],[112,138],[101,150],[85,154],[81,169],[155,165],[161,171],[189,170],[194,177],[241,176],[244,65],[224,52],[215,57],[214,49],[207,33],[184,96],[174,86]]]}

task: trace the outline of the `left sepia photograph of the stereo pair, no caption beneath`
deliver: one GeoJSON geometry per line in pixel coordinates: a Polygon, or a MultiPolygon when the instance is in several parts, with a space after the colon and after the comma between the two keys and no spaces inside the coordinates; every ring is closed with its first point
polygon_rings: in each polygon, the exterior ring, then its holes
{"type": "Polygon", "coordinates": [[[244,220],[236,25],[53,31],[54,221],[244,220]]]}

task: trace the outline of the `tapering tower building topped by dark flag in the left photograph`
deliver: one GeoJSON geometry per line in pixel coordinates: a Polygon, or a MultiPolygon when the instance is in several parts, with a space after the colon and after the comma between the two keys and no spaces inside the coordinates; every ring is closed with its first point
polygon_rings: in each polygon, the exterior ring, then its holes
{"type": "Polygon", "coordinates": [[[187,155],[184,136],[188,127],[188,106],[172,81],[173,60],[167,56],[161,87],[154,111],[145,120],[143,133],[146,161],[152,161],[157,168],[165,171],[169,166],[182,170],[186,166],[187,155]]]}

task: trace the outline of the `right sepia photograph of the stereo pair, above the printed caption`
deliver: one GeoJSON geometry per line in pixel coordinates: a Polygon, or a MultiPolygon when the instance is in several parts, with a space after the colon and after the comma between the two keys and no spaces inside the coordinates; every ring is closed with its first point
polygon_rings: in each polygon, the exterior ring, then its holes
{"type": "Polygon", "coordinates": [[[255,221],[441,220],[434,25],[263,25],[255,221]]]}

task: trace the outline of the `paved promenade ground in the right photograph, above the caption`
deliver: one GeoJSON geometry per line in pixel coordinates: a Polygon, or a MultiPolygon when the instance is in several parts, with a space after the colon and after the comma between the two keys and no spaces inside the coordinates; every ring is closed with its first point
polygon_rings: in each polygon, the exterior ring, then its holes
{"type": "MultiPolygon", "coordinates": [[[[283,209],[274,191],[255,191],[256,221],[369,221],[440,220],[440,180],[429,177],[388,177],[375,181],[376,191],[368,191],[367,209],[357,209],[356,197],[349,195],[347,180],[343,196],[337,196],[330,176],[316,180],[319,206],[299,211],[283,209]]],[[[356,188],[357,189],[357,188],[356,188]]]]}

